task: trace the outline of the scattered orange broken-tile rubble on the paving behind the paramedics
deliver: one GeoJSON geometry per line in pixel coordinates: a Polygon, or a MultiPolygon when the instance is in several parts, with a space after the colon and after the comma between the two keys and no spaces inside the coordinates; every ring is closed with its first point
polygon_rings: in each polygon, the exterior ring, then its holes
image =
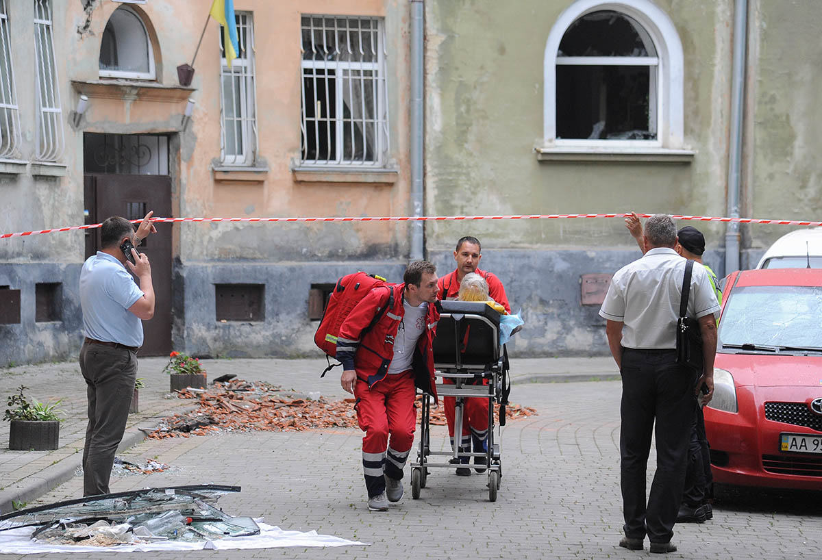
{"type": "MultiPolygon", "coordinates": [[[[252,430],[299,432],[307,429],[356,428],[355,399],[330,401],[318,392],[307,396],[283,391],[276,385],[230,379],[214,383],[211,388],[178,391],[179,398],[197,399],[200,406],[188,414],[176,414],[161,420],[149,438],[164,439],[190,434],[247,432],[252,430]]],[[[422,396],[418,396],[419,402],[422,396]]],[[[495,405],[499,415],[499,404],[495,405]]],[[[533,408],[509,404],[506,418],[517,420],[537,414],[533,408]]],[[[445,425],[442,406],[431,409],[432,425],[445,425]]]]}

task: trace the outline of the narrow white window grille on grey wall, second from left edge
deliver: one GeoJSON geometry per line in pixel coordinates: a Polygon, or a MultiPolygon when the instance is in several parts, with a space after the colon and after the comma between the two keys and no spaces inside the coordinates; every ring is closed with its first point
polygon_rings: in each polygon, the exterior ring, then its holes
{"type": "Polygon", "coordinates": [[[51,0],[35,0],[35,55],[37,57],[37,158],[56,161],[64,145],[62,109],[54,61],[51,0]]]}

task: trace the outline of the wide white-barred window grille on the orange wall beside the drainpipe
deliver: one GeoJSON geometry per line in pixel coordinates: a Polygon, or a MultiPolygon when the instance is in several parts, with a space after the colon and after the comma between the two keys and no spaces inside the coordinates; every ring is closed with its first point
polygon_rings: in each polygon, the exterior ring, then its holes
{"type": "Polygon", "coordinates": [[[301,163],[372,166],[390,149],[384,25],[302,16],[301,163]]]}

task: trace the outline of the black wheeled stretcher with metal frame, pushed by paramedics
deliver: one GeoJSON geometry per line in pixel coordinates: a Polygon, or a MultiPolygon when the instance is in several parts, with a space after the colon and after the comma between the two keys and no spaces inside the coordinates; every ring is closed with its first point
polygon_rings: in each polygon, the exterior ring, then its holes
{"type": "Polygon", "coordinates": [[[505,425],[510,392],[508,357],[505,347],[500,345],[501,315],[481,301],[441,301],[440,304],[433,346],[438,378],[436,393],[440,397],[455,397],[455,444],[450,452],[431,449],[431,396],[423,393],[419,450],[417,461],[411,464],[411,496],[419,498],[420,490],[426,487],[429,468],[454,469],[466,466],[461,464],[461,458],[485,457],[488,499],[494,502],[502,478],[500,444],[494,441],[494,403],[500,403],[500,425],[505,425]],[[440,379],[449,379],[452,383],[441,383],[440,379]],[[459,448],[466,398],[487,400],[488,440],[484,453],[459,448]],[[443,461],[432,461],[433,457],[442,457],[443,461]]]}

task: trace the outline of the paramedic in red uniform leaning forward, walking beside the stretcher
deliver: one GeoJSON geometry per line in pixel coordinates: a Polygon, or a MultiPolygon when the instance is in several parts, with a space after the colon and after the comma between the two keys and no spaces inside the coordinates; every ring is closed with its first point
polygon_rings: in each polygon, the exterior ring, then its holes
{"type": "Polygon", "coordinates": [[[433,395],[432,340],[440,314],[436,302],[436,267],[415,260],[402,284],[375,287],[363,297],[339,328],[337,360],[343,364],[340,383],[357,397],[354,405],[363,438],[363,474],[368,509],[388,510],[403,497],[403,467],[417,425],[415,387],[433,395]],[[374,327],[363,333],[382,307],[374,327]]]}

